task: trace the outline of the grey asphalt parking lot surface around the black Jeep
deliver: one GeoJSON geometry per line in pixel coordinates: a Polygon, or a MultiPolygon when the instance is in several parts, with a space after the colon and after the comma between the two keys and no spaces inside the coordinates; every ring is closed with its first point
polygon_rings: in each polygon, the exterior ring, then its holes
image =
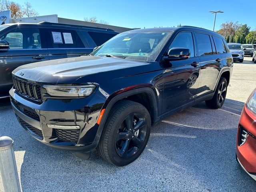
{"type": "Polygon", "coordinates": [[[256,182],[235,160],[238,120],[256,87],[255,74],[251,57],[235,63],[221,109],[202,102],[169,116],[152,128],[140,158],[125,167],[96,152],[84,161],[41,144],[18,124],[8,99],[0,100],[0,136],[14,140],[23,192],[255,191],[256,182]]]}

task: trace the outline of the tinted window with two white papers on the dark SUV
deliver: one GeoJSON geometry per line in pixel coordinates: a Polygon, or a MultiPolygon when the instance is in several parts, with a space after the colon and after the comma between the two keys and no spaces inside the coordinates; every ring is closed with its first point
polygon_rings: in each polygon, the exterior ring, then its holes
{"type": "Polygon", "coordinates": [[[47,36],[50,37],[49,48],[85,48],[75,30],[47,29],[47,36]]]}

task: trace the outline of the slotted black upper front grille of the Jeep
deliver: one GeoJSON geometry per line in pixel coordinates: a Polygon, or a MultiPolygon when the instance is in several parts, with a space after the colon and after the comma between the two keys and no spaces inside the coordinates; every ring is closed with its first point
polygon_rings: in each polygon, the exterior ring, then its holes
{"type": "Polygon", "coordinates": [[[35,101],[42,102],[41,86],[36,83],[31,83],[26,80],[12,77],[14,88],[22,96],[26,96],[35,101]]]}

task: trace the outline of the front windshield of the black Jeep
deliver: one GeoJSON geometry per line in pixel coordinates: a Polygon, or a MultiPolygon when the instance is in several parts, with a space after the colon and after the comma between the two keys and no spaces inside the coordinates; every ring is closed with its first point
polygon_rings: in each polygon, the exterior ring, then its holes
{"type": "Polygon", "coordinates": [[[140,31],[118,34],[94,50],[94,56],[122,56],[127,59],[155,61],[172,32],[140,31]]]}

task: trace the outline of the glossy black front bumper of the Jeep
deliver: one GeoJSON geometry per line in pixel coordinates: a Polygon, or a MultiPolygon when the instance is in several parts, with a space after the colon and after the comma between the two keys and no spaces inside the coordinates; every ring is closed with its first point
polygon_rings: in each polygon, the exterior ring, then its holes
{"type": "Polygon", "coordinates": [[[98,145],[101,132],[97,119],[104,103],[102,96],[94,94],[96,102],[79,98],[36,103],[20,96],[15,89],[9,93],[19,123],[36,140],[55,148],[83,152],[98,145]],[[88,113],[82,112],[85,106],[90,108],[88,113]]]}

